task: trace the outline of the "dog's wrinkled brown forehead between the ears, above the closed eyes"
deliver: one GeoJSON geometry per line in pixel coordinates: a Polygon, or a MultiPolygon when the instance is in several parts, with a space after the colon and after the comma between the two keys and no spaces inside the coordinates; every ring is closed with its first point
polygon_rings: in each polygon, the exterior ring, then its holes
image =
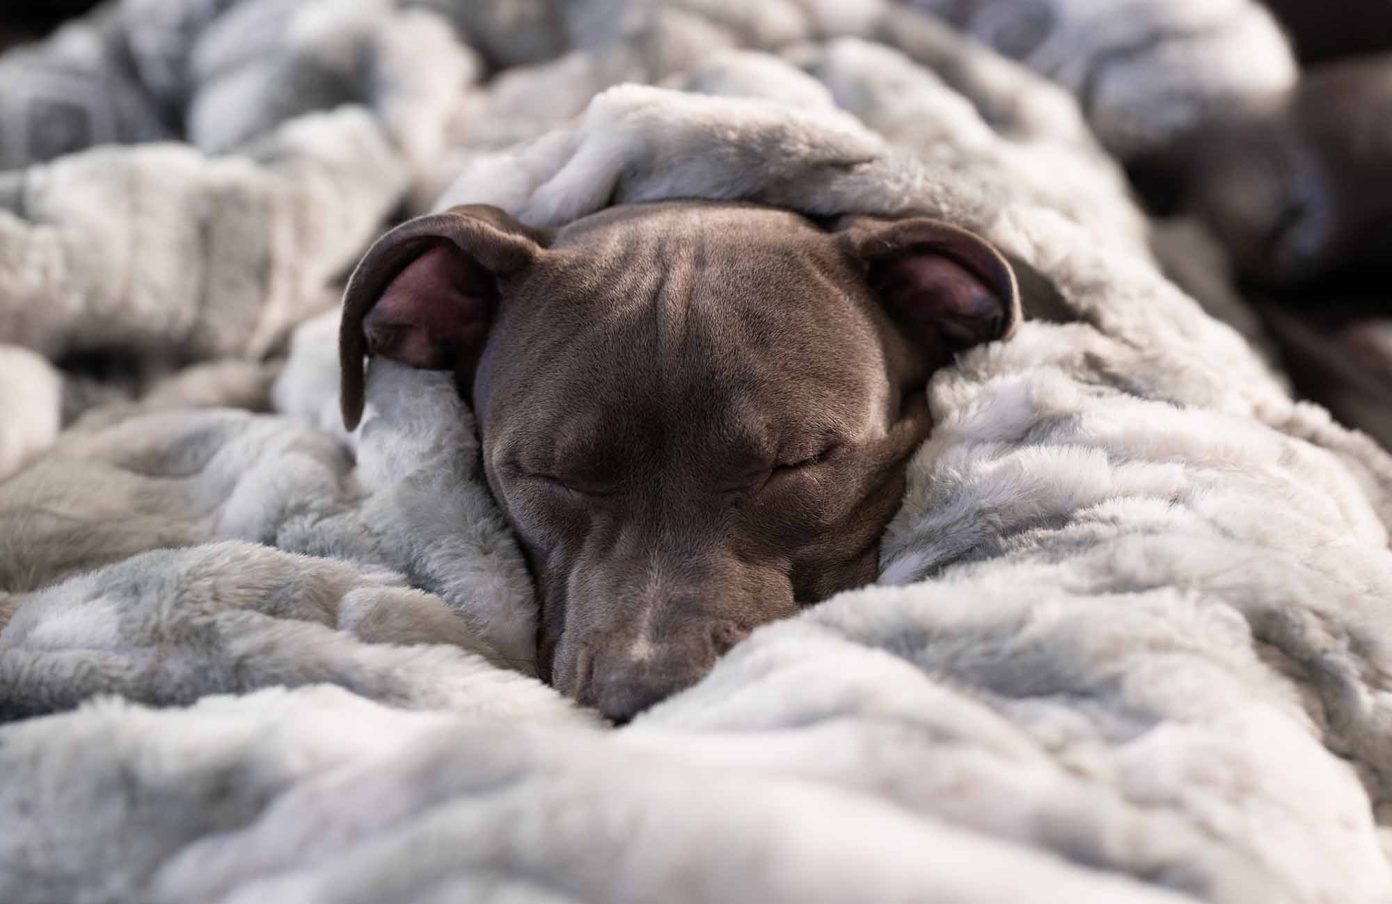
{"type": "Polygon", "coordinates": [[[582,225],[505,300],[519,435],[767,449],[878,413],[878,327],[831,236],[741,207],[582,225]]]}

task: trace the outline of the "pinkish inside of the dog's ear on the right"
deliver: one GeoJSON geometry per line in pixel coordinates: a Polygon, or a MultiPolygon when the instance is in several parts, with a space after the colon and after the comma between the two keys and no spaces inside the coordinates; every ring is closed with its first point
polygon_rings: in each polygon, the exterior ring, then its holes
{"type": "Polygon", "coordinates": [[[887,261],[881,280],[887,300],[920,335],[940,332],[955,348],[1001,335],[1005,300],[941,252],[924,249],[887,261]]]}

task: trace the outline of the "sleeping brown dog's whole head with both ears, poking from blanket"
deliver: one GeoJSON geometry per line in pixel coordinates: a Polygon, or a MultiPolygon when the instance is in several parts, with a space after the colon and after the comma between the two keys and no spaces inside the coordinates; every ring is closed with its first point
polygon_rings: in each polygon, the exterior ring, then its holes
{"type": "Polygon", "coordinates": [[[999,253],[933,220],[677,202],[550,234],[459,207],[355,273],[344,412],[365,352],[455,370],[537,580],[541,675],[624,720],[874,580],[928,376],[1018,320],[999,253]]]}

